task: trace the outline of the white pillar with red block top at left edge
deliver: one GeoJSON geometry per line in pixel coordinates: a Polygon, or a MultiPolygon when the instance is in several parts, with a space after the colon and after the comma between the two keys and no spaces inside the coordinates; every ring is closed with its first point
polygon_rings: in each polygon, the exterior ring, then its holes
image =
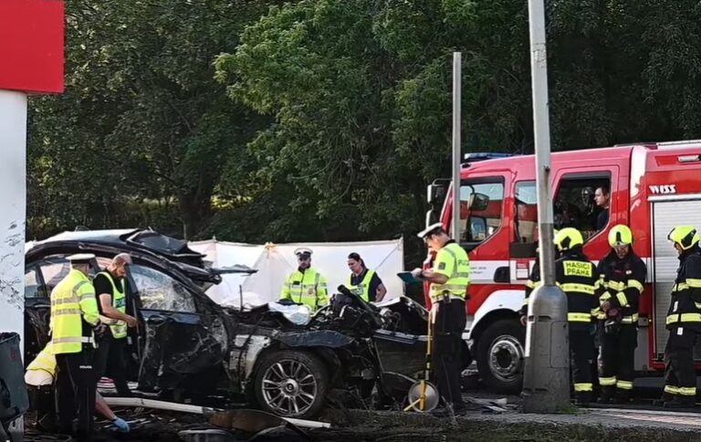
{"type": "MultiPolygon", "coordinates": [[[[0,379],[9,392],[8,409],[16,407],[22,413],[28,406],[21,360],[25,330],[26,98],[28,93],[63,91],[63,11],[63,2],[56,0],[0,1],[0,379]]],[[[0,439],[18,441],[23,435],[22,416],[6,425],[0,423],[0,439]]]]}

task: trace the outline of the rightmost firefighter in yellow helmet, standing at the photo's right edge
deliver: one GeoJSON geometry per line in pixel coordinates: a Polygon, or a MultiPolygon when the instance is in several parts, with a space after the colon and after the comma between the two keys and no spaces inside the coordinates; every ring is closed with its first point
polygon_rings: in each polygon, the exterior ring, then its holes
{"type": "Polygon", "coordinates": [[[665,408],[674,408],[696,402],[693,351],[701,332],[701,249],[693,226],[673,228],[668,239],[679,255],[679,268],[667,311],[663,403],[665,408]]]}

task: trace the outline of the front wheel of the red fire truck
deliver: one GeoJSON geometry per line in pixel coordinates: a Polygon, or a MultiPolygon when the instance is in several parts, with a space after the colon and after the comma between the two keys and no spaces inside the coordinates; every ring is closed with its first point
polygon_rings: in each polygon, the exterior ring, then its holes
{"type": "Polygon", "coordinates": [[[479,337],[477,369],[489,391],[512,395],[520,393],[525,339],[526,329],[516,318],[488,325],[479,337]]]}

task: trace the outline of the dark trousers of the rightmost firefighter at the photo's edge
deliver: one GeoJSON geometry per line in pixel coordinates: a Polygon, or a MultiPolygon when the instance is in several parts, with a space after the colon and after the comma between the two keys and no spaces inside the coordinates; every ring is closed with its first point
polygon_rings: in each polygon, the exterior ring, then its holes
{"type": "Polygon", "coordinates": [[[664,399],[682,402],[696,401],[696,371],[694,370],[694,344],[696,332],[685,327],[669,331],[664,347],[664,399]],[[681,334],[679,334],[681,333],[681,334]]]}

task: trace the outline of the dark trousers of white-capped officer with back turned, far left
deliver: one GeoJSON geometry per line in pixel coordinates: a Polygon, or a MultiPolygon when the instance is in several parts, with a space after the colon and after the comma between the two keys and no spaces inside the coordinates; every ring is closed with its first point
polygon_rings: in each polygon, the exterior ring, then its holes
{"type": "Polygon", "coordinates": [[[80,353],[56,355],[56,395],[61,431],[73,433],[73,418],[78,413],[79,440],[89,440],[93,429],[97,388],[93,353],[92,344],[84,344],[80,353]]]}

